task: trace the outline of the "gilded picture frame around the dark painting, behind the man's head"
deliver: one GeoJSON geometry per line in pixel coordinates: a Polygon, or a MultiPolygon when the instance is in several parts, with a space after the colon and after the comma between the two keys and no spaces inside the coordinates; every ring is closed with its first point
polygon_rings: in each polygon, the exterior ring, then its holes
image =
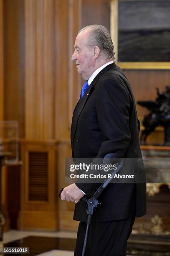
{"type": "MultiPolygon", "coordinates": [[[[118,1],[110,1],[110,34],[114,42],[115,58],[118,59],[118,1]]],[[[147,0],[144,0],[147,1],[147,0]]],[[[156,1],[156,0],[155,0],[156,1]]],[[[119,62],[122,69],[170,69],[170,62],[119,62]]]]}

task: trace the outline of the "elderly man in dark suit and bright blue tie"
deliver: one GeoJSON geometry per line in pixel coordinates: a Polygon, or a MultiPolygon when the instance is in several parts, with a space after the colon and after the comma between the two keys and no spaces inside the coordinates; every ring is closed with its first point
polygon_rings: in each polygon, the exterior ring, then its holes
{"type": "MultiPolygon", "coordinates": [[[[114,46],[107,28],[90,25],[79,31],[72,60],[86,81],[71,125],[73,158],[142,158],[134,96],[122,70],[114,63],[114,46]],[[85,92],[85,93],[84,93],[85,92]]],[[[96,184],[71,184],[61,199],[77,202],[80,221],[74,255],[81,256],[86,228],[86,205],[96,184]]],[[[146,213],[145,184],[109,184],[94,212],[86,256],[125,256],[135,217],[146,213]]]]}

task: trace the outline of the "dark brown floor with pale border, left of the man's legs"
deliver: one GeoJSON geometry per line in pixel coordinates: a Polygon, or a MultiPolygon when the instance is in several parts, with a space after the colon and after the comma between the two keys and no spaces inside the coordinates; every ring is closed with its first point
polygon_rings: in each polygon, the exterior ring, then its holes
{"type": "Polygon", "coordinates": [[[29,247],[29,256],[73,256],[76,232],[10,230],[4,233],[3,243],[5,247],[29,247]]]}

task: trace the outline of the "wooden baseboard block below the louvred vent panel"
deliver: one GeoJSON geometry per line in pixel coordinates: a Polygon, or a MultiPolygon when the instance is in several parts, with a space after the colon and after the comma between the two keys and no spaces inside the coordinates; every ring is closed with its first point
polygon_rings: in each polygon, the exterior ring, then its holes
{"type": "Polygon", "coordinates": [[[57,231],[58,214],[49,211],[20,211],[18,229],[57,231]]]}

